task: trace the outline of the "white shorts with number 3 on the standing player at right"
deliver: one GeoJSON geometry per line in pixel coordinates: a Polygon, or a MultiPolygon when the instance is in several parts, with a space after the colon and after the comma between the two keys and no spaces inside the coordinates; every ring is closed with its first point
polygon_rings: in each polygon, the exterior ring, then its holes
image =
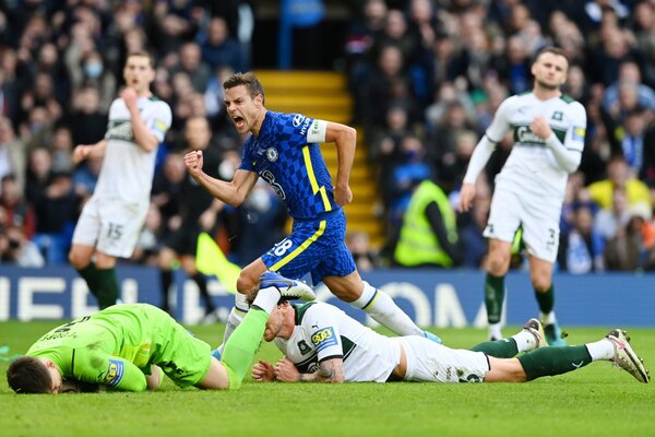
{"type": "Polygon", "coordinates": [[[512,243],[519,226],[522,226],[527,252],[555,262],[561,212],[560,199],[519,194],[497,186],[484,236],[512,243]]]}

